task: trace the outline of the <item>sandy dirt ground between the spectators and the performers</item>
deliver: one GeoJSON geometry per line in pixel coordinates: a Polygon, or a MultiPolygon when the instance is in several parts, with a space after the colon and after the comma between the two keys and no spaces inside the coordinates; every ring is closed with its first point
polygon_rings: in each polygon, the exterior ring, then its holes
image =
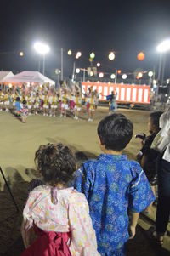
{"type": "MultiPolygon", "coordinates": [[[[134,134],[148,133],[148,111],[120,109],[118,112],[133,121],[134,134]]],[[[20,237],[21,215],[26,202],[28,183],[32,178],[37,177],[34,154],[38,146],[49,142],[62,142],[70,145],[73,151],[84,151],[88,157],[96,157],[101,153],[96,129],[99,120],[106,115],[107,109],[99,107],[94,122],[87,122],[88,115],[84,113],[79,121],[75,121],[72,117],[32,115],[24,124],[10,113],[0,112],[0,165],[20,209],[20,212],[16,213],[0,174],[1,256],[18,256],[24,248],[20,237]]],[[[139,140],[134,139],[134,134],[125,151],[130,159],[134,158],[140,148],[139,140]]],[[[128,255],[162,256],[170,255],[170,251],[156,247],[144,228],[139,226],[135,239],[128,244],[128,255]]]]}

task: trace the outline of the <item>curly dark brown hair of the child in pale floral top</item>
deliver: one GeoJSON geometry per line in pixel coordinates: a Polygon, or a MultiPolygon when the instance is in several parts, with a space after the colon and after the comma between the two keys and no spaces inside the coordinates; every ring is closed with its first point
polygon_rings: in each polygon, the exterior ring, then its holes
{"type": "Polygon", "coordinates": [[[76,162],[71,150],[62,144],[40,145],[34,161],[43,179],[49,185],[66,185],[76,171],[76,162]]]}

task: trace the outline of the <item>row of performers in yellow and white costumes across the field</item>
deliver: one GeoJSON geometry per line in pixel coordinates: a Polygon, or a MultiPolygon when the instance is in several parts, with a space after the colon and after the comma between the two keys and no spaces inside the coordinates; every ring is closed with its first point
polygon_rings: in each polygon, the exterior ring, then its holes
{"type": "Polygon", "coordinates": [[[21,114],[24,117],[24,122],[31,114],[56,117],[57,109],[59,109],[59,117],[67,117],[70,111],[74,119],[78,120],[83,104],[87,107],[88,122],[93,122],[98,103],[97,90],[88,88],[88,92],[82,93],[82,89],[77,84],[68,88],[64,83],[58,89],[49,84],[30,87],[23,84],[21,88],[5,86],[0,90],[0,111],[13,110],[17,115],[21,114]]]}

